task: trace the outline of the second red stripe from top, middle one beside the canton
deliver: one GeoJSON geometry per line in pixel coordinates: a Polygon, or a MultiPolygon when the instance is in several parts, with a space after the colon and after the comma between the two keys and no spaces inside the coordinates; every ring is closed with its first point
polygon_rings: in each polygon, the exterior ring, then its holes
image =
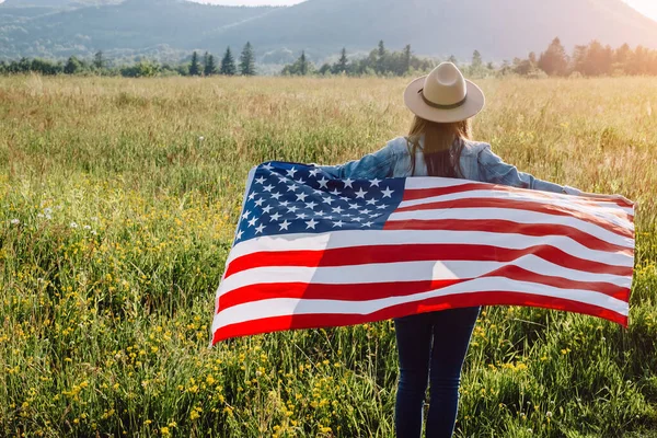
{"type": "Polygon", "coordinates": [[[440,210],[448,208],[508,208],[514,210],[526,210],[548,214],[552,216],[562,217],[574,217],[583,221],[596,224],[603,228],[612,233],[623,235],[625,238],[633,239],[634,232],[626,227],[618,226],[608,220],[603,220],[595,215],[589,215],[574,208],[555,206],[552,204],[539,204],[530,200],[516,200],[516,199],[496,199],[496,198],[468,198],[468,199],[454,199],[443,200],[436,203],[420,204],[416,206],[402,207],[394,210],[394,212],[404,211],[423,211],[423,210],[440,210]]]}

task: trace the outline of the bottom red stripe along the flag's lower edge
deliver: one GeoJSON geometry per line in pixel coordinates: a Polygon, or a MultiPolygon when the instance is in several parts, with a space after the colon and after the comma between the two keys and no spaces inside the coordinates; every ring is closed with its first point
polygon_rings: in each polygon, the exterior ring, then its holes
{"type": "Polygon", "coordinates": [[[527,306],[577,312],[602,318],[627,327],[627,316],[598,306],[529,293],[508,291],[473,292],[458,296],[437,297],[422,303],[404,303],[367,315],[361,314],[301,314],[265,318],[220,327],[212,335],[212,344],[237,336],[279,332],[296,328],[334,327],[401,318],[415,313],[439,311],[474,306],[527,306]]]}

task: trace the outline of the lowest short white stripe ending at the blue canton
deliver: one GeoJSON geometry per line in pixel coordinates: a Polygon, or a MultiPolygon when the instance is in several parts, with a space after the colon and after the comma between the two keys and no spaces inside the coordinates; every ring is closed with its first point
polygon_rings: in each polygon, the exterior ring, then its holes
{"type": "MultiPolygon", "coordinates": [[[[481,207],[481,208],[441,208],[436,210],[417,210],[417,211],[402,211],[393,212],[388,218],[389,222],[396,222],[402,220],[434,220],[434,219],[448,219],[448,220],[468,220],[468,219],[484,219],[484,220],[507,220],[515,223],[527,223],[527,224],[561,224],[573,227],[579,231],[586,232],[589,235],[593,235],[604,242],[613,243],[622,246],[633,246],[633,240],[612,231],[609,231],[602,227],[598,227],[595,223],[587,222],[585,220],[577,219],[573,216],[554,216],[544,212],[537,212],[530,210],[511,210],[506,208],[497,207],[481,207]]],[[[548,234],[545,234],[548,235],[548,234]]]]}

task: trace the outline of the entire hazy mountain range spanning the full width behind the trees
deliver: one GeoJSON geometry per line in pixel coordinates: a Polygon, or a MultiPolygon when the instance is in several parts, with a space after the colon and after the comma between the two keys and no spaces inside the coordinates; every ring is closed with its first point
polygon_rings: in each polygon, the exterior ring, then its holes
{"type": "Polygon", "coordinates": [[[293,59],[306,49],[318,61],[411,44],[418,55],[485,59],[598,39],[618,47],[657,48],[657,22],[622,0],[308,0],[288,8],[219,7],[184,0],[7,0],[0,4],[0,59],[20,56],[112,56],[192,49],[221,54],[246,41],[260,60],[293,59]],[[110,4],[107,4],[110,3],[110,4]],[[31,4],[31,8],[20,7],[31,4]]]}

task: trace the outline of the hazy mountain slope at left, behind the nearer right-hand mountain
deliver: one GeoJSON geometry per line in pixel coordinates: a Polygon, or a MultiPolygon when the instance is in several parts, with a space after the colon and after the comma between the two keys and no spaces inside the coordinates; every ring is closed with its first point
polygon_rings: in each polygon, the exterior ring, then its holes
{"type": "MultiPolygon", "coordinates": [[[[38,1],[51,4],[65,2],[38,1]]],[[[114,56],[191,50],[197,48],[198,42],[209,32],[275,10],[206,5],[183,0],[125,0],[117,4],[87,7],[79,3],[80,0],[71,1],[60,9],[0,4],[0,42],[5,42],[0,43],[0,59],[90,56],[96,50],[114,56]],[[43,13],[15,20],[21,13],[32,10],[43,10],[43,13]],[[2,20],[3,16],[14,20],[8,23],[2,20]]]]}

